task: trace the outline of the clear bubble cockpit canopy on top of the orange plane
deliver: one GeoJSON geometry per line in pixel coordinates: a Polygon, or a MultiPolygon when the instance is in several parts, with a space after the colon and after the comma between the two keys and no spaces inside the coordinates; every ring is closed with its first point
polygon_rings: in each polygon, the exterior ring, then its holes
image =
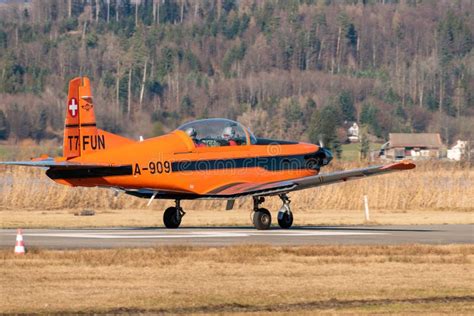
{"type": "Polygon", "coordinates": [[[240,123],[221,118],[192,121],[178,127],[192,138],[196,147],[255,144],[255,136],[240,123]]]}

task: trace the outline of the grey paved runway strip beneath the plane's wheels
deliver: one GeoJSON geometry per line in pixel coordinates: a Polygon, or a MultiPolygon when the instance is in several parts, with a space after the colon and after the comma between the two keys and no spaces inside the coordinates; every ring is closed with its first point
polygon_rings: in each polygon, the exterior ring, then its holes
{"type": "MultiPolygon", "coordinates": [[[[0,229],[0,247],[15,244],[16,231],[0,229]]],[[[235,244],[452,244],[474,243],[474,225],[312,226],[258,231],[251,227],[26,229],[27,247],[114,248],[235,244]]]]}

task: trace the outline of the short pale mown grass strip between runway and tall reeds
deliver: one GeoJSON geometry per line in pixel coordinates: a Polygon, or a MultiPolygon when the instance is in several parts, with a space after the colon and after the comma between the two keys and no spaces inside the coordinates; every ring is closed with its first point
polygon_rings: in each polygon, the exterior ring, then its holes
{"type": "MultiPolygon", "coordinates": [[[[171,203],[170,203],[171,205],[171,203]]],[[[251,226],[249,210],[191,210],[183,203],[187,213],[181,227],[196,226],[251,226]]],[[[8,210],[0,212],[1,228],[78,228],[78,227],[163,227],[163,209],[95,210],[94,216],[74,216],[72,210],[8,210]]],[[[276,223],[277,210],[272,210],[276,223]]],[[[317,225],[428,225],[474,224],[472,212],[461,211],[384,211],[371,213],[369,223],[362,210],[297,210],[295,226],[317,225]]]]}

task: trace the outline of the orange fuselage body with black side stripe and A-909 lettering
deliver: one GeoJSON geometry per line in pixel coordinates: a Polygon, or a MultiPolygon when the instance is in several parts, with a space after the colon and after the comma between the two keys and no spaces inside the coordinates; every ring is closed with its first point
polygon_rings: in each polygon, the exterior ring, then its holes
{"type": "Polygon", "coordinates": [[[176,130],[71,160],[121,168],[108,170],[105,166],[73,172],[54,168],[47,175],[72,186],[147,188],[204,195],[229,184],[268,183],[316,175],[329,162],[328,155],[327,150],[317,145],[270,140],[240,146],[198,147],[186,133],[176,130]]]}

